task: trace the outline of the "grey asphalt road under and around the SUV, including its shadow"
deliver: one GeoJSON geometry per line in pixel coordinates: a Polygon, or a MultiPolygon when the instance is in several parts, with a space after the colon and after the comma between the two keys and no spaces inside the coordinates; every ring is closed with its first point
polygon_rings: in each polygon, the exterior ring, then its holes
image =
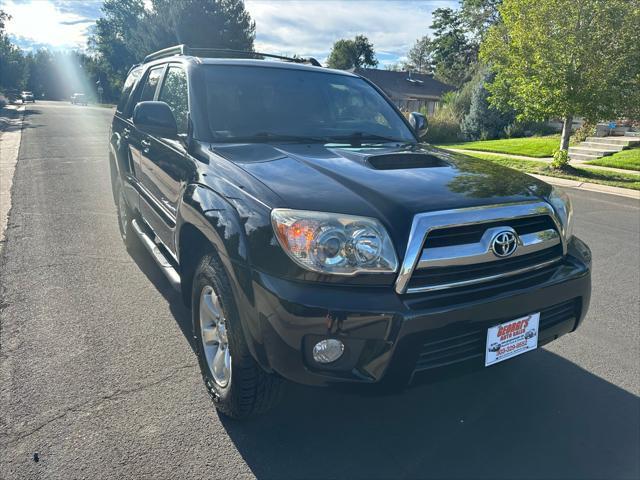
{"type": "Polygon", "coordinates": [[[292,385],[237,423],[201,385],[189,312],[120,241],[110,116],[28,106],[0,261],[2,479],[640,476],[638,201],[571,191],[593,298],[549,348],[399,395],[292,385]]]}

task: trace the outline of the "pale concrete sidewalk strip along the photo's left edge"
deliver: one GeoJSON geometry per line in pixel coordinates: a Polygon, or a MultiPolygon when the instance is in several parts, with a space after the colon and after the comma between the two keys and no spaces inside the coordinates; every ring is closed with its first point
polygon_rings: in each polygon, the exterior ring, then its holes
{"type": "Polygon", "coordinates": [[[0,248],[11,209],[11,185],[18,160],[25,107],[7,105],[0,110],[0,248]]]}

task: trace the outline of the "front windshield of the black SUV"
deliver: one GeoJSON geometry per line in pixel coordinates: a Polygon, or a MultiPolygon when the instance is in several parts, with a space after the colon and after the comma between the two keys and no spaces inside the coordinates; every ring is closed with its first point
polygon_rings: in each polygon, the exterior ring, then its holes
{"type": "Polygon", "coordinates": [[[400,115],[361,78],[235,65],[205,70],[213,142],[415,142],[400,115]]]}

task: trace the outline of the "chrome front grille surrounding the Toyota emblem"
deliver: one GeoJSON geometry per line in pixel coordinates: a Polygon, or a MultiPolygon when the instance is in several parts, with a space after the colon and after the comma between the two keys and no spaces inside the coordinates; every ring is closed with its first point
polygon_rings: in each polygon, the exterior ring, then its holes
{"type": "Polygon", "coordinates": [[[396,291],[417,293],[490,282],[548,267],[565,253],[555,213],[545,202],[420,214],[414,218],[396,291]],[[518,247],[500,258],[492,243],[505,231],[517,236],[518,247]]]}

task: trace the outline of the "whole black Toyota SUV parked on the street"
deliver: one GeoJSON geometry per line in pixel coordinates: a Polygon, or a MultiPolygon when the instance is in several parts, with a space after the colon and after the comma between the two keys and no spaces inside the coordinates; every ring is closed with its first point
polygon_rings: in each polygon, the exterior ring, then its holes
{"type": "Polygon", "coordinates": [[[109,152],[122,238],[181,290],[220,411],[266,410],[283,379],[482,368],[488,329],[525,315],[538,346],[579,325],[591,254],[565,194],[421,143],[425,118],[357,75],[229,56],[135,66],[109,152]]]}

